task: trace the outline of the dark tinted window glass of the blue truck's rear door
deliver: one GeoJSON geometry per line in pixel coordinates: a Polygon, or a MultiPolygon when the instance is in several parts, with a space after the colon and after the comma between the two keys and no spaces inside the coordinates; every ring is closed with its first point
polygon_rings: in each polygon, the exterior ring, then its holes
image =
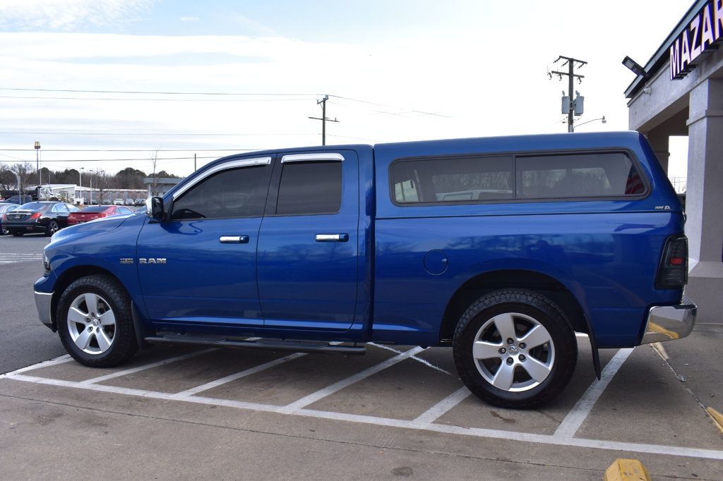
{"type": "Polygon", "coordinates": [[[276,213],[333,214],[341,207],[341,162],[287,162],[276,213]]]}

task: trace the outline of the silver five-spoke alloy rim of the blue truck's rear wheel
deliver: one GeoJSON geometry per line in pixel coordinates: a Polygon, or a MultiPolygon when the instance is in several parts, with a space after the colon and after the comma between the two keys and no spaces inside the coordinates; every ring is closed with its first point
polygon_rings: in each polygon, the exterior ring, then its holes
{"type": "Polygon", "coordinates": [[[482,378],[497,389],[529,391],[552,372],[555,344],[534,317],[500,313],[475,334],[472,357],[482,378]]]}

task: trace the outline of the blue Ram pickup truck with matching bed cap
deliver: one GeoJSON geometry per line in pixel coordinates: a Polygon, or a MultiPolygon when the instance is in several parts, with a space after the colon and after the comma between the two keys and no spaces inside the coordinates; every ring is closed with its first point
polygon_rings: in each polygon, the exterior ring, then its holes
{"type": "Polygon", "coordinates": [[[56,233],[40,320],[78,362],[152,344],[448,346],[534,407],[597,350],[685,337],[685,215],[636,132],[303,147],[211,162],[134,215],[56,233]]]}

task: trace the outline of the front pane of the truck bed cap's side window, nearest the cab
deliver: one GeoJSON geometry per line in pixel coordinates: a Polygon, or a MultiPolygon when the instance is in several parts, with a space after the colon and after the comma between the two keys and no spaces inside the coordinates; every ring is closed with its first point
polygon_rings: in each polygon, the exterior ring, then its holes
{"type": "Polygon", "coordinates": [[[513,157],[466,157],[395,162],[396,202],[512,199],[513,157]]]}

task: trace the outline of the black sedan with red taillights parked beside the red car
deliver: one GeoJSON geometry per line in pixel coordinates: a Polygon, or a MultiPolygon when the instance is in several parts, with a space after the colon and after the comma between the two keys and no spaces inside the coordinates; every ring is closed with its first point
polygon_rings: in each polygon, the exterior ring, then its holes
{"type": "Polygon", "coordinates": [[[28,202],[6,214],[3,225],[16,237],[29,233],[45,233],[49,236],[67,227],[68,216],[78,210],[65,202],[28,202]]]}

